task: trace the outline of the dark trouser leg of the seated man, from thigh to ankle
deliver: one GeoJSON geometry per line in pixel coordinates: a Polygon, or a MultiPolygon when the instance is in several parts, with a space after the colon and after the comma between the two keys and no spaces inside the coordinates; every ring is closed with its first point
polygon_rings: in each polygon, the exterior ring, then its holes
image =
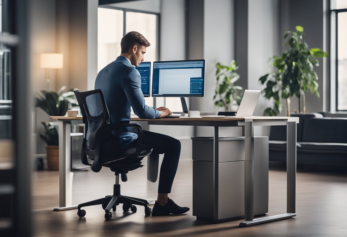
{"type": "Polygon", "coordinates": [[[164,154],[160,167],[158,193],[171,193],[181,153],[181,142],[168,135],[143,130],[141,143],[152,147],[153,155],[164,154]]]}

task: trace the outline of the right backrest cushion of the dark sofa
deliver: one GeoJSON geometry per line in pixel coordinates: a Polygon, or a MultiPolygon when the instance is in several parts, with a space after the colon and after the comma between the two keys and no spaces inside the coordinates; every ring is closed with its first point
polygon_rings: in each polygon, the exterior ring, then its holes
{"type": "Polygon", "coordinates": [[[347,143],[347,118],[311,118],[305,120],[303,142],[347,143]]]}

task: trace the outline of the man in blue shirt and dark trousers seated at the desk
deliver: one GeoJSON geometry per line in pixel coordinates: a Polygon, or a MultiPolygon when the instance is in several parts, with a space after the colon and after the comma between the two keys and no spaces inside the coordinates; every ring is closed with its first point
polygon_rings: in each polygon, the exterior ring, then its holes
{"type": "MultiPolygon", "coordinates": [[[[130,106],[141,119],[158,119],[171,114],[166,107],[153,109],[145,104],[141,90],[141,76],[135,67],[143,60],[146,48],[151,44],[138,32],[128,32],[120,42],[120,56],[96,77],[95,89],[101,89],[112,123],[130,120],[130,106]]],[[[128,129],[128,128],[126,128],[128,129]]],[[[113,138],[104,141],[104,146],[126,149],[137,138],[131,130],[114,131],[113,138]]],[[[152,154],[164,154],[160,167],[158,198],[152,210],[152,216],[182,214],[189,211],[187,207],[179,207],[168,198],[174,181],[181,143],[167,135],[143,131],[142,144],[153,148],[152,154]]]]}

